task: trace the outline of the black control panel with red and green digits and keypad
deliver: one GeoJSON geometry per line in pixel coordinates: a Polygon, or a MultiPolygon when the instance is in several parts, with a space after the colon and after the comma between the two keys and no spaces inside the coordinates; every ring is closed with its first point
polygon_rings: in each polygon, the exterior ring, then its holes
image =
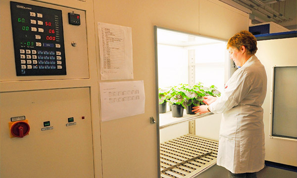
{"type": "Polygon", "coordinates": [[[62,11],[13,1],[10,11],[16,75],[66,75],[62,11]]]}

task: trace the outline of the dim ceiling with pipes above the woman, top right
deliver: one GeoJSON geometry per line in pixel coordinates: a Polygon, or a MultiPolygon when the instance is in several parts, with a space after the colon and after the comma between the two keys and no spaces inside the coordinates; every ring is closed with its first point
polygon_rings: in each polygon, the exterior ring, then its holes
{"type": "Polygon", "coordinates": [[[251,24],[275,22],[297,30],[297,0],[220,0],[249,14],[251,24]]]}

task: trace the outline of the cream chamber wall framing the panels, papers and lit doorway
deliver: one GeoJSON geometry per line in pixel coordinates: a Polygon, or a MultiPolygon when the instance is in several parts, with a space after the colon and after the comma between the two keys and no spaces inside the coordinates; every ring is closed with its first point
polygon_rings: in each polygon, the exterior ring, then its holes
{"type": "MultiPolygon", "coordinates": [[[[218,0],[40,1],[86,10],[90,76],[87,79],[1,81],[1,92],[89,87],[95,177],[156,178],[158,135],[156,125],[149,123],[149,117],[157,118],[153,26],[227,40],[248,28],[248,14],[218,0]],[[111,81],[100,81],[98,77],[98,22],[132,27],[134,80],[144,80],[144,114],[100,122],[98,83],[111,81]]],[[[1,0],[1,9],[9,9],[8,3],[8,0],[1,0]]],[[[1,24],[3,22],[10,24],[2,16],[1,24]]],[[[1,26],[1,38],[3,30],[1,26]]],[[[0,60],[4,60],[3,51],[12,48],[5,46],[2,40],[0,45],[0,60]]]]}

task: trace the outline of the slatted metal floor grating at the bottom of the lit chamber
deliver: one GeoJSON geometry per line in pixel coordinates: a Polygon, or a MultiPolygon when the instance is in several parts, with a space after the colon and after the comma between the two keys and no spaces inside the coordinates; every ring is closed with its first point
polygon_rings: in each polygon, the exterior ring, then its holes
{"type": "Polygon", "coordinates": [[[161,178],[191,178],[216,163],[219,142],[186,134],[160,144],[161,178]]]}

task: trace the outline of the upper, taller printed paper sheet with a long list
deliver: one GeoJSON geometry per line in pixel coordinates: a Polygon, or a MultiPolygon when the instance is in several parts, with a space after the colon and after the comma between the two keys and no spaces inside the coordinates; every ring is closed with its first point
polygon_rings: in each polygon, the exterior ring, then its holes
{"type": "Polygon", "coordinates": [[[133,79],[132,29],[98,22],[101,80],[133,79]]]}

